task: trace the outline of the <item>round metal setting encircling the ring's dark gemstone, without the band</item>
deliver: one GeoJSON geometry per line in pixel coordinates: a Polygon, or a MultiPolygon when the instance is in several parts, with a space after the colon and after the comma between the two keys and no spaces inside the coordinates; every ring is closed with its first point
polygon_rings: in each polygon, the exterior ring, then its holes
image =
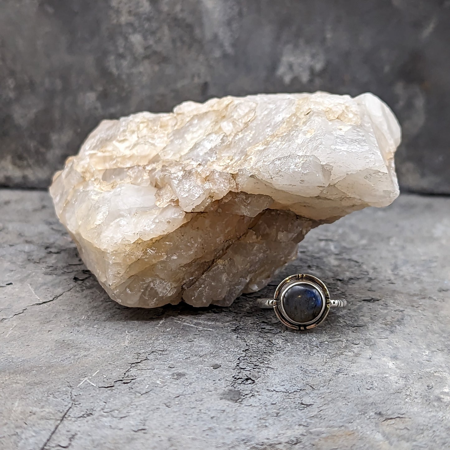
{"type": "Polygon", "coordinates": [[[285,278],[276,288],[274,299],[274,311],[278,319],[287,327],[294,330],[307,330],[321,324],[327,317],[331,305],[330,295],[325,284],[315,276],[308,274],[291,275],[290,277],[285,278]],[[308,284],[319,291],[320,296],[322,297],[323,306],[320,314],[314,320],[300,323],[295,322],[286,314],[283,307],[283,300],[286,292],[290,288],[304,284],[308,284]]]}

